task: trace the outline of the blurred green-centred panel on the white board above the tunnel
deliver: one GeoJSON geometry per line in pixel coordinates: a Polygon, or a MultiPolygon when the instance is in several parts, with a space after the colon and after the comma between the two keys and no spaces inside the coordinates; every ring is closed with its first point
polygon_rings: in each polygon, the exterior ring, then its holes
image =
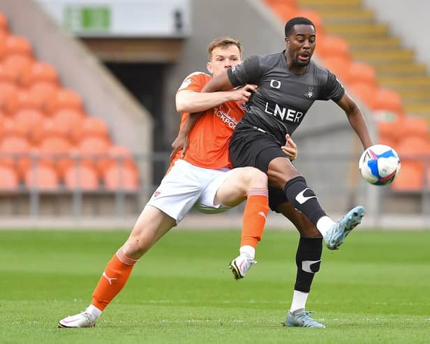
{"type": "Polygon", "coordinates": [[[71,31],[107,32],[111,10],[107,6],[66,6],[64,24],[71,31]]]}

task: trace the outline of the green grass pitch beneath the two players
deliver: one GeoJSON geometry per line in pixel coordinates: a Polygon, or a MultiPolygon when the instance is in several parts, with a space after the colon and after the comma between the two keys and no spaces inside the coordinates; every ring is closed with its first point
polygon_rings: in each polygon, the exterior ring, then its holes
{"type": "Polygon", "coordinates": [[[239,232],[172,230],[94,329],[82,311],[128,232],[1,231],[0,343],[430,343],[430,231],[355,230],[324,250],[307,308],[327,329],[282,327],[298,234],[267,229],[234,281],[239,232]]]}

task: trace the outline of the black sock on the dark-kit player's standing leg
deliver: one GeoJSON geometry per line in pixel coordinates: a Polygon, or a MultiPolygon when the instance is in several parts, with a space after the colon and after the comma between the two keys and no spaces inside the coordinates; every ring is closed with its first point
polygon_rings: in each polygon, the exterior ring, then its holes
{"type": "Polygon", "coordinates": [[[320,269],[323,254],[323,238],[300,237],[297,247],[297,276],[294,286],[299,292],[309,292],[313,276],[320,269]]]}

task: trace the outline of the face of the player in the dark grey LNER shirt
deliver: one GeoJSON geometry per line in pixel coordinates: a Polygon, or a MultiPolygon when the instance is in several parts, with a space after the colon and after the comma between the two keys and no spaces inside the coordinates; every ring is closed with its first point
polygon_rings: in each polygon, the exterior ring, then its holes
{"type": "Polygon", "coordinates": [[[287,61],[289,67],[302,68],[311,61],[315,50],[315,29],[312,25],[299,24],[286,38],[287,61]]]}

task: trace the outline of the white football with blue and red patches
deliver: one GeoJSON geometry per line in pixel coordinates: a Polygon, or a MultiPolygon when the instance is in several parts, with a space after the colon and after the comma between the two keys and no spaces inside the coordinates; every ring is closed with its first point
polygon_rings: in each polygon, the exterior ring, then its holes
{"type": "Polygon", "coordinates": [[[375,144],[363,152],[358,167],[370,184],[387,185],[399,174],[400,158],[390,146],[375,144]]]}

